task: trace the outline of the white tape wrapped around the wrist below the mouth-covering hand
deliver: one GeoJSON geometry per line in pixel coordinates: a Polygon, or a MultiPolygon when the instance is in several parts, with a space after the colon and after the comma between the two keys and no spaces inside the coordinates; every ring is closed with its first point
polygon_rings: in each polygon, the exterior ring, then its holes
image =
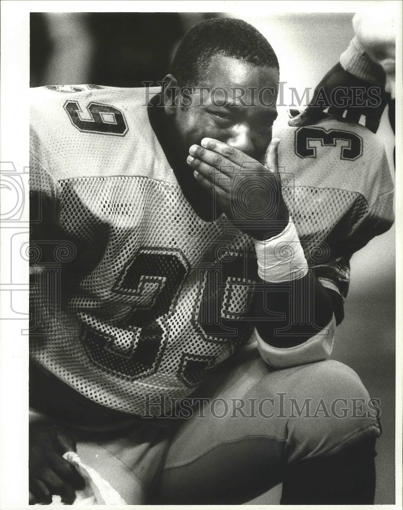
{"type": "Polygon", "coordinates": [[[258,274],[266,282],[289,282],[305,276],[308,263],[294,223],[267,241],[255,239],[258,274]]]}

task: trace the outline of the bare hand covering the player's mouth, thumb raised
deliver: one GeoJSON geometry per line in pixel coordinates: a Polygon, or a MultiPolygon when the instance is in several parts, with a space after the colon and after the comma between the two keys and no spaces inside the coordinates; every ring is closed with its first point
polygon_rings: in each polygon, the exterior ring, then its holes
{"type": "Polygon", "coordinates": [[[279,234],[289,218],[281,193],[279,143],[279,139],[270,142],[267,166],[212,138],[204,138],[201,146],[189,149],[187,163],[196,181],[215,197],[239,230],[256,239],[279,234]]]}

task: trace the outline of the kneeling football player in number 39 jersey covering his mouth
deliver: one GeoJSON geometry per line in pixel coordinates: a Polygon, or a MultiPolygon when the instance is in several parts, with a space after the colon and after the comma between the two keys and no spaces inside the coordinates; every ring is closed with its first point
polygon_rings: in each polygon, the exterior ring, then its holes
{"type": "Polygon", "coordinates": [[[215,19],[162,89],[33,90],[31,502],[74,500],[76,448],[128,504],[279,480],[283,503],[373,502],[377,414],[327,358],[389,171],[333,121],[278,161],[278,81],[256,29],[215,19]]]}

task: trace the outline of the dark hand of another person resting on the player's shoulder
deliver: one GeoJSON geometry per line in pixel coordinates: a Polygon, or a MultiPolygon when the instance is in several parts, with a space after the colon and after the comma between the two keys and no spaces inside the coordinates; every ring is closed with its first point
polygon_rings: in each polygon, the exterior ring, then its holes
{"type": "Polygon", "coordinates": [[[384,85],[361,80],[345,71],[338,62],[315,88],[307,109],[288,124],[293,127],[315,124],[324,116],[323,110],[329,108],[328,113],[333,117],[354,124],[364,120],[365,127],[376,133],[388,99],[384,85]]]}

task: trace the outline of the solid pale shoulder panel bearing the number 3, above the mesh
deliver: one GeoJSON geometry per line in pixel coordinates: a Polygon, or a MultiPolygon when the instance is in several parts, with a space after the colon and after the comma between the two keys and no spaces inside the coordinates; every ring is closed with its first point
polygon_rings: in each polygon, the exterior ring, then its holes
{"type": "Polygon", "coordinates": [[[359,193],[368,203],[393,190],[382,140],[358,124],[332,118],[303,127],[281,126],[279,167],[296,186],[359,193]]]}

